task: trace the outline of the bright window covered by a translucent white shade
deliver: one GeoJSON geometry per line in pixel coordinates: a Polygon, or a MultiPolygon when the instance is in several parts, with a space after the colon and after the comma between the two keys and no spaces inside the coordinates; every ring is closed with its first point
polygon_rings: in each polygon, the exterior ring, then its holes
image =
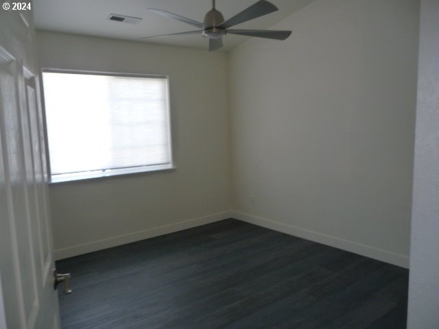
{"type": "Polygon", "coordinates": [[[43,71],[51,182],[172,168],[167,77],[43,71]]]}

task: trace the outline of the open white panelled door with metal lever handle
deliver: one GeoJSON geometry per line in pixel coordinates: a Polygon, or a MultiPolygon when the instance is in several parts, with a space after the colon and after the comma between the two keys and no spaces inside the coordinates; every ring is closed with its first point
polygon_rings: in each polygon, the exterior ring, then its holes
{"type": "Polygon", "coordinates": [[[0,328],[60,328],[32,12],[0,9],[0,328]]]}

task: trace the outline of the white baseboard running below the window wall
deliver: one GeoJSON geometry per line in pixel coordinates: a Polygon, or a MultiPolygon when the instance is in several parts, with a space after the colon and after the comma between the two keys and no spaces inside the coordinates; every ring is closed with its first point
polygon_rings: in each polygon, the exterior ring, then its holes
{"type": "Polygon", "coordinates": [[[84,243],[81,245],[73,245],[72,247],[56,249],[55,259],[60,260],[73,256],[86,254],[88,252],[96,252],[97,250],[107,249],[110,247],[116,247],[117,245],[125,245],[126,243],[132,243],[141,241],[144,239],[154,238],[164,234],[174,233],[187,228],[195,228],[196,226],[202,226],[205,224],[213,223],[215,221],[222,221],[223,219],[230,218],[230,212],[218,212],[213,215],[198,217],[195,219],[189,219],[186,221],[179,221],[177,223],[171,223],[165,226],[159,226],[157,228],[150,228],[139,232],[132,232],[129,234],[123,234],[119,236],[112,236],[108,239],[93,241],[90,243],[84,243]]]}

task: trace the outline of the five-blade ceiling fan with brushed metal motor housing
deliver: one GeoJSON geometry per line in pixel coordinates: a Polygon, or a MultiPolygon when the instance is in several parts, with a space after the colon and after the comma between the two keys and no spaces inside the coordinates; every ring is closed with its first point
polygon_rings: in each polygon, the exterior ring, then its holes
{"type": "MultiPolygon", "coordinates": [[[[224,21],[224,16],[222,13],[216,10],[215,0],[212,0],[212,10],[207,12],[204,16],[204,23],[193,21],[187,17],[183,17],[166,10],[147,8],[151,12],[156,14],[161,14],[163,16],[169,17],[171,19],[176,19],[177,21],[187,23],[189,25],[198,27],[195,31],[163,34],[161,36],[185,36],[189,34],[202,34],[202,36],[209,38],[209,51],[217,50],[223,47],[222,38],[227,34],[239,34],[241,36],[257,36],[259,38],[268,38],[276,40],[285,40],[288,38],[292,31],[272,31],[267,29],[230,29],[235,25],[250,21],[252,19],[257,19],[258,17],[276,12],[278,8],[272,3],[266,0],[259,0],[257,3],[250,5],[247,9],[239,12],[232,18],[224,21]]],[[[161,36],[147,36],[146,38],[158,38],[161,36]]]]}

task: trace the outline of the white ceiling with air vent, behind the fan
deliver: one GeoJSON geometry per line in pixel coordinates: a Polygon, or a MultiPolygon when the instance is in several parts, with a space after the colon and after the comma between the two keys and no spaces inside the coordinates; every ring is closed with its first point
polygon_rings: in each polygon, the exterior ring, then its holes
{"type": "MultiPolygon", "coordinates": [[[[279,10],[239,26],[242,29],[267,29],[313,0],[270,0],[279,10]]],[[[234,16],[257,0],[217,0],[217,10],[224,19],[234,16]]],[[[101,36],[139,42],[158,43],[207,49],[208,42],[201,35],[166,36],[139,40],[145,36],[192,31],[191,25],[149,12],[158,8],[202,22],[211,10],[211,0],[34,0],[34,19],[37,29],[54,32],[101,36]],[[110,14],[121,14],[143,19],[138,25],[108,21],[110,14]]],[[[228,35],[222,51],[233,49],[247,37],[228,35]]],[[[280,42],[273,40],[272,42],[280,42]]]]}

